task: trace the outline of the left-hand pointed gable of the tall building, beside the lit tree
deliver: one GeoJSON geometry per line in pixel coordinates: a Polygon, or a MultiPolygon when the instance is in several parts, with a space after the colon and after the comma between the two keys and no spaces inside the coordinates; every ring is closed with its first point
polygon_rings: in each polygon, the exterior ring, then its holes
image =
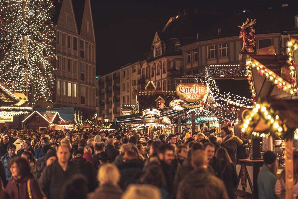
{"type": "MultiPolygon", "coordinates": [[[[63,0],[60,6],[61,8],[58,17],[57,27],[69,30],[73,33],[78,33],[72,2],[70,0],[63,0]]],[[[56,12],[57,11],[59,11],[58,7],[56,12]]]]}

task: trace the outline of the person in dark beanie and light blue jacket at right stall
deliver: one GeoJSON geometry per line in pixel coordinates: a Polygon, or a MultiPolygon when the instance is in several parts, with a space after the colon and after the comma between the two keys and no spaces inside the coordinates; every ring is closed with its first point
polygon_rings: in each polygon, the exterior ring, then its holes
{"type": "Polygon", "coordinates": [[[259,198],[277,199],[274,187],[277,180],[276,155],[272,151],[266,151],[263,155],[264,164],[257,178],[259,198]]]}

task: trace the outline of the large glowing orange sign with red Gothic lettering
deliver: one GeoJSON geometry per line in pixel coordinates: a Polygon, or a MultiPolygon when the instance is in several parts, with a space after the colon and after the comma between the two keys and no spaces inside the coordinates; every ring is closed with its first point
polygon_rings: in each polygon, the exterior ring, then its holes
{"type": "Polygon", "coordinates": [[[207,87],[204,84],[179,84],[176,88],[176,93],[180,99],[187,102],[195,102],[204,98],[207,92],[207,87]]]}

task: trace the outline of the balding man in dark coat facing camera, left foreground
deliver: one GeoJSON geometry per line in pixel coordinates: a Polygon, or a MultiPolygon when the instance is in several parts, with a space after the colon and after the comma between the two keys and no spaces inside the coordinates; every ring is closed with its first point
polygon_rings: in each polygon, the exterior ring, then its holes
{"type": "Polygon", "coordinates": [[[60,198],[63,184],[73,175],[80,173],[77,165],[69,161],[69,146],[59,146],[57,158],[57,161],[44,169],[38,183],[48,199],[60,198]]]}

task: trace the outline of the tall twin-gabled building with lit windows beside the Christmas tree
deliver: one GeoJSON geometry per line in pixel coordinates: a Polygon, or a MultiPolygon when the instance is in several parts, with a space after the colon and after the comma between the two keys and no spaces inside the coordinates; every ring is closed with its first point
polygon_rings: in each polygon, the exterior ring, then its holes
{"type": "Polygon", "coordinates": [[[75,107],[85,118],[96,112],[95,37],[90,0],[55,2],[55,107],[75,107]]]}

